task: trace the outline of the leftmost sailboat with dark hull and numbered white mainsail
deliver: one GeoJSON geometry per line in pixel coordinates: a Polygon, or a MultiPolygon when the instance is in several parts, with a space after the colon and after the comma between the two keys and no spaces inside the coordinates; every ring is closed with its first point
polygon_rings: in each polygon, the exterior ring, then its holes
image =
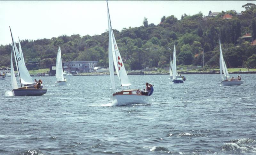
{"type": "MultiPolygon", "coordinates": [[[[10,27],[10,32],[12,36],[12,31],[10,27]]],[[[28,72],[28,69],[24,63],[24,58],[20,55],[18,48],[15,44],[15,41],[12,37],[12,52],[14,54],[14,59],[20,79],[20,88],[18,88],[17,81],[15,79],[13,64],[12,64],[12,55],[11,55],[11,79],[12,79],[12,91],[15,96],[38,96],[44,95],[47,92],[47,89],[36,88],[33,84],[34,82],[31,79],[31,76],[28,72]],[[21,58],[22,57],[22,58],[21,58]],[[15,79],[15,80],[14,80],[15,79]],[[22,87],[22,84],[24,85],[22,87]],[[17,87],[16,87],[17,85],[17,87]]]]}

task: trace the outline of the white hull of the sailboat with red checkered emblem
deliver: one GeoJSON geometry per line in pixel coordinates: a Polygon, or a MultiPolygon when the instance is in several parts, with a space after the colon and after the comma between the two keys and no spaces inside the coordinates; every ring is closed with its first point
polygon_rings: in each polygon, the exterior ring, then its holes
{"type": "Polygon", "coordinates": [[[146,95],[114,95],[112,97],[112,102],[118,106],[124,106],[129,104],[136,104],[136,103],[148,103],[149,96],[146,95]]]}

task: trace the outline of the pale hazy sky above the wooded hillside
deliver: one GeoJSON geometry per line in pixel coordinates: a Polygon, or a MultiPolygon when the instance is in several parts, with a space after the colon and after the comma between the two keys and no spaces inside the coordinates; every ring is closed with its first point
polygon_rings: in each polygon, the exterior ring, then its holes
{"type": "MultiPolygon", "coordinates": [[[[108,1],[112,28],[159,24],[163,16],[197,14],[209,11],[245,11],[242,5],[256,1],[108,1]]],[[[0,45],[28,39],[51,39],[61,35],[100,35],[108,29],[106,1],[0,1],[0,45]]]]}

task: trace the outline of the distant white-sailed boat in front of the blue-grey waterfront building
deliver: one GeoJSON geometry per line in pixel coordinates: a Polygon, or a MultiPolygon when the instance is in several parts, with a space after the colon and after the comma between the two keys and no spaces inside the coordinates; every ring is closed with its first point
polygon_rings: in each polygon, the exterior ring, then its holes
{"type": "Polygon", "coordinates": [[[64,76],[63,76],[60,46],[59,46],[57,59],[56,59],[56,78],[57,78],[57,81],[54,83],[55,85],[60,86],[60,85],[67,84],[67,81],[66,79],[64,79],[64,76]]]}

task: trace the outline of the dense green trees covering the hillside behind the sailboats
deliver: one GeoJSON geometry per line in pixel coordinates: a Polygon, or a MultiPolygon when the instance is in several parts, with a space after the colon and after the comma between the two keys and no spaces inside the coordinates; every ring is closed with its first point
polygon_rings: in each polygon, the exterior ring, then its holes
{"type": "MultiPolygon", "coordinates": [[[[219,66],[219,39],[227,67],[256,68],[252,40],[256,39],[256,6],[245,4],[246,11],[238,16],[236,11],[222,11],[217,17],[203,18],[199,12],[178,20],[173,15],[163,16],[159,25],[148,24],[145,17],[142,26],[114,30],[117,45],[125,67],[132,70],[145,67],[167,67],[176,44],[177,64],[200,65],[204,50],[204,62],[209,67],[219,66]],[[224,14],[232,19],[223,19],[224,14]],[[249,40],[241,39],[251,33],[249,40]]],[[[115,19],[113,19],[115,20],[115,19]]],[[[11,39],[10,39],[11,40],[11,39]]],[[[101,35],[62,35],[52,39],[21,40],[26,64],[37,62],[34,69],[46,68],[56,63],[58,47],[62,62],[98,60],[108,67],[108,32],[101,35]]],[[[10,67],[11,45],[0,46],[0,66],[10,67]]]]}

